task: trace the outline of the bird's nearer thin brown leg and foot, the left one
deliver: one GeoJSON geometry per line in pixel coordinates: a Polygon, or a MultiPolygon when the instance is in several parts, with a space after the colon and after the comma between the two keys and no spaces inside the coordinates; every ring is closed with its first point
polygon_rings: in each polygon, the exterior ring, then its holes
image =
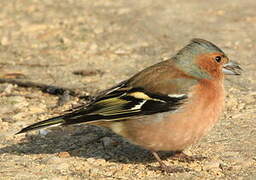
{"type": "Polygon", "coordinates": [[[160,164],[159,168],[152,168],[154,170],[162,170],[166,173],[177,173],[177,172],[188,172],[189,169],[187,168],[182,168],[182,167],[171,167],[171,166],[167,166],[159,157],[159,155],[157,154],[157,152],[155,151],[151,151],[151,153],[153,154],[153,156],[156,158],[156,160],[158,161],[158,163],[160,164]]]}

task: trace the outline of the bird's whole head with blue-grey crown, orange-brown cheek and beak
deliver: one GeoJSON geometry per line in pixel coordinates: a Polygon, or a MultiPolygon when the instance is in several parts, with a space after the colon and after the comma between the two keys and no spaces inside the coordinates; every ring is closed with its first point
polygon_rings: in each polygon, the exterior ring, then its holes
{"type": "Polygon", "coordinates": [[[242,70],[220,48],[203,39],[193,39],[174,60],[188,75],[199,79],[222,79],[224,74],[240,75],[242,70]]]}

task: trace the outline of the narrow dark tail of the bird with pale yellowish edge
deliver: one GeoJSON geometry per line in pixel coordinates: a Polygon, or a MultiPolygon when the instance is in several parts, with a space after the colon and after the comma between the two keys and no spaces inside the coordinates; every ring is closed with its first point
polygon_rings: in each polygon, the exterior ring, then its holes
{"type": "Polygon", "coordinates": [[[35,124],[32,124],[30,126],[27,126],[25,128],[23,128],[22,130],[20,130],[19,132],[17,132],[16,134],[20,134],[20,133],[25,133],[28,131],[32,131],[35,129],[41,129],[44,127],[54,127],[54,126],[59,126],[64,124],[66,121],[63,118],[63,116],[58,116],[58,117],[54,117],[54,118],[50,118],[35,124]]]}

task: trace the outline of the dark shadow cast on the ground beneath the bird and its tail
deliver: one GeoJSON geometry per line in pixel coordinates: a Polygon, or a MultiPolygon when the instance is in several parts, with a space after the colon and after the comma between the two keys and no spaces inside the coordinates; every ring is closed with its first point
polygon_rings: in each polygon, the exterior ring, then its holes
{"type": "MultiPolygon", "coordinates": [[[[135,164],[155,162],[149,151],[129,143],[110,130],[90,125],[78,125],[73,129],[77,130],[58,128],[47,135],[27,134],[20,143],[0,148],[0,154],[68,152],[74,157],[105,159],[110,162],[135,164]]],[[[171,155],[173,155],[171,152],[160,152],[163,160],[171,155]]]]}

